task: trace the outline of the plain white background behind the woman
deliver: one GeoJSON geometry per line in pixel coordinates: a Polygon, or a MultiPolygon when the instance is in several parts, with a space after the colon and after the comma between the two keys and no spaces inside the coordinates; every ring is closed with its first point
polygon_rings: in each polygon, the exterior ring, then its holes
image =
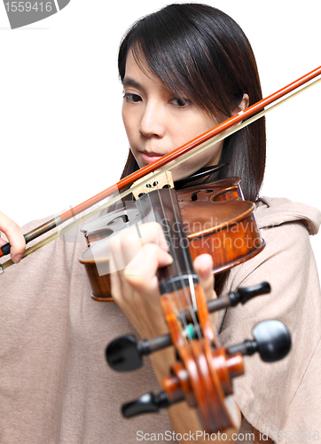
{"type": "MultiPolygon", "coordinates": [[[[244,29],[263,96],[321,64],[319,0],[207,3],[244,29]]],[[[15,30],[0,4],[0,210],[20,225],[74,206],[120,177],[128,143],[118,46],[133,21],[165,4],[71,0],[50,18],[15,30]]],[[[267,117],[263,195],[321,207],[320,99],[317,85],[267,117]]],[[[320,270],[320,234],[312,244],[320,270]]]]}

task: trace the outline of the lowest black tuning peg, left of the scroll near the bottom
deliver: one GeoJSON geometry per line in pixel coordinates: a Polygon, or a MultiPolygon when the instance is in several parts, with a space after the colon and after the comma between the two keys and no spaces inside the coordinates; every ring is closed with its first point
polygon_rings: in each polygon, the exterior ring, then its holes
{"type": "Polygon", "coordinates": [[[171,402],[168,401],[166,392],[154,394],[146,393],[137,400],[131,400],[121,407],[122,415],[125,417],[137,416],[142,413],[153,413],[160,411],[160,408],[168,408],[171,402]]]}

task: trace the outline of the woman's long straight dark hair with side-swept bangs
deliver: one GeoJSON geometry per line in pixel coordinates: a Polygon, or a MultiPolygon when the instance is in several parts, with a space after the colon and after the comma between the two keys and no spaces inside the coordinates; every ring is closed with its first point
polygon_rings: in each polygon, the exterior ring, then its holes
{"type": "MultiPolygon", "coordinates": [[[[231,116],[247,93],[262,99],[254,53],[247,36],[228,15],[206,4],[170,4],[138,20],[119,51],[121,81],[131,51],[138,66],[157,75],[178,98],[188,97],[208,115],[231,116]]],[[[245,198],[258,198],[265,169],[265,121],[260,119],[224,140],[217,178],[239,176],[245,198]]],[[[121,178],[138,170],[129,150],[121,178]]],[[[215,278],[218,293],[226,274],[215,278]]]]}

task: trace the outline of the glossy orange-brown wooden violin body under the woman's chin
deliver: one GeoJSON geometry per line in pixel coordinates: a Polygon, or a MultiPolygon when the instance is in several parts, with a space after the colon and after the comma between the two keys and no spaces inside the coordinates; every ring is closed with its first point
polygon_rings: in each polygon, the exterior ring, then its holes
{"type": "MultiPolygon", "coordinates": [[[[264,247],[254,219],[254,203],[243,201],[240,178],[225,178],[212,184],[176,191],[184,232],[192,259],[209,253],[214,274],[254,257],[264,247]]],[[[89,249],[80,262],[90,279],[91,297],[113,301],[109,276],[110,236],[142,221],[135,202],[107,213],[82,227],[89,249]]]]}

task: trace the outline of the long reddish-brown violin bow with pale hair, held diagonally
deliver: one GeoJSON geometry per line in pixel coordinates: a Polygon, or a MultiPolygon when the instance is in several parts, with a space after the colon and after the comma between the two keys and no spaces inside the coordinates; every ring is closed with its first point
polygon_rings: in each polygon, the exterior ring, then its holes
{"type": "MultiPolygon", "coordinates": [[[[199,137],[190,140],[189,142],[185,143],[183,146],[174,149],[167,155],[163,155],[159,160],[150,163],[148,165],[145,165],[145,167],[133,172],[126,178],[122,178],[119,182],[117,182],[113,186],[109,186],[108,188],[106,188],[106,190],[94,195],[87,201],[76,205],[71,210],[67,210],[61,213],[59,216],[51,218],[51,220],[45,222],[43,225],[35,227],[35,229],[29,231],[27,234],[24,234],[26,243],[31,242],[37,237],[45,233],[48,233],[53,228],[62,225],[63,223],[67,222],[67,220],[74,218],[75,216],[81,214],[83,211],[88,210],[93,205],[98,204],[98,202],[103,201],[104,199],[106,199],[106,197],[110,197],[113,194],[117,194],[105,204],[100,205],[97,209],[90,211],[90,213],[86,214],[82,218],[74,220],[72,223],[69,223],[67,226],[63,227],[62,230],[59,231],[59,233],[51,234],[43,241],[35,243],[33,247],[30,247],[27,250],[25,250],[24,254],[22,255],[22,258],[26,258],[29,254],[33,253],[35,250],[39,250],[47,243],[50,243],[51,241],[57,239],[59,235],[66,233],[74,226],[78,226],[80,223],[82,223],[82,221],[91,218],[99,211],[113,205],[115,202],[118,202],[126,195],[131,194],[136,189],[135,185],[131,186],[130,189],[122,192],[121,194],[119,194],[119,192],[124,188],[126,188],[127,186],[132,185],[134,182],[137,182],[137,180],[145,178],[145,176],[150,173],[153,173],[155,178],[158,177],[160,174],[162,174],[165,170],[168,169],[167,168],[168,163],[171,163],[171,168],[174,168],[180,163],[184,163],[185,160],[189,159],[193,155],[197,155],[201,151],[207,149],[208,147],[211,147],[214,143],[217,143],[218,141],[225,139],[228,136],[231,136],[231,134],[233,134],[234,132],[241,130],[248,124],[253,123],[255,120],[260,119],[263,115],[266,115],[268,112],[270,112],[271,109],[278,107],[281,103],[286,103],[288,99],[292,99],[295,95],[301,93],[301,91],[307,90],[312,85],[320,83],[321,78],[317,79],[318,75],[321,75],[321,67],[317,67],[313,71],[310,71],[308,74],[301,76],[299,79],[295,80],[292,83],[289,83],[284,88],[281,88],[280,90],[274,92],[273,94],[270,94],[270,96],[266,97],[265,99],[262,99],[254,103],[254,105],[252,105],[251,107],[247,107],[246,110],[240,111],[237,115],[233,115],[229,119],[225,120],[223,123],[219,123],[213,129],[204,132],[199,137]],[[310,81],[313,82],[309,83],[310,81]],[[301,90],[299,90],[299,88],[302,85],[305,86],[303,86],[301,90]],[[292,94],[286,97],[290,93],[292,94]],[[268,108],[264,109],[265,107],[268,108]],[[245,119],[247,120],[243,122],[245,119]],[[234,125],[237,126],[235,128],[231,128],[234,125]]],[[[145,183],[147,183],[148,181],[149,178],[141,180],[139,184],[137,184],[137,187],[145,185],[145,183]]],[[[10,248],[11,248],[10,243],[9,242],[5,243],[0,249],[0,258],[9,254],[10,248]]],[[[0,274],[3,274],[4,270],[8,268],[8,266],[12,266],[13,264],[14,262],[12,262],[12,260],[8,260],[4,262],[4,264],[0,265],[0,274]]]]}

